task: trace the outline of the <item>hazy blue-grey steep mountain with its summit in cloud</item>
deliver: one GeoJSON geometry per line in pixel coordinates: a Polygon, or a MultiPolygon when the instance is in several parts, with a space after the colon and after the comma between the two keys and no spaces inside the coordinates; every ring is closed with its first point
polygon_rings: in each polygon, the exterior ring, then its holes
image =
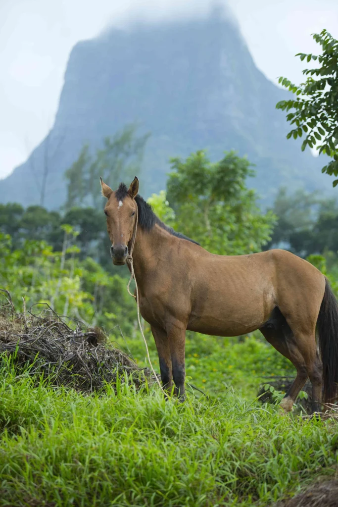
{"type": "Polygon", "coordinates": [[[55,124],[28,160],[0,181],[0,202],[65,201],[64,171],[85,142],[100,146],[126,124],[150,131],[141,193],[165,188],[169,157],[207,149],[212,160],[235,149],[256,164],[249,185],[271,202],[280,185],[328,189],[321,160],[286,140],[287,92],[255,66],[235,22],[206,19],[111,28],[71,51],[55,124]],[[47,164],[46,164],[47,161],[47,164]],[[44,176],[45,168],[48,174],[44,176]]]}

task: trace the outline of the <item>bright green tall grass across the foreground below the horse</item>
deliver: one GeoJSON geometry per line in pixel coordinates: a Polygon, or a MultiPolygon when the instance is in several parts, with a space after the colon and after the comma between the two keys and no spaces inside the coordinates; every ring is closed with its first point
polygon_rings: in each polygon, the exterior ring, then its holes
{"type": "Polygon", "coordinates": [[[334,421],[230,391],[183,404],[156,386],[84,396],[0,364],[0,505],[270,505],[336,469],[334,421]]]}

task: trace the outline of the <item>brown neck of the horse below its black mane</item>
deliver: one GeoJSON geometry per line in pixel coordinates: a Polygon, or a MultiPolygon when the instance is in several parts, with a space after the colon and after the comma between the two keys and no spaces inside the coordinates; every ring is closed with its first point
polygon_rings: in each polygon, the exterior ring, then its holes
{"type": "Polygon", "coordinates": [[[166,248],[168,239],[155,226],[151,231],[143,231],[139,226],[132,253],[137,284],[142,287],[144,280],[157,269],[161,251],[166,248]]]}

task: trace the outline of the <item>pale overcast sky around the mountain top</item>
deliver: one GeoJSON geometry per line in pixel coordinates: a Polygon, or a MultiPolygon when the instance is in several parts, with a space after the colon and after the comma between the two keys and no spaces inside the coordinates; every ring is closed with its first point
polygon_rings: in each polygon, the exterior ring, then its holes
{"type": "MultiPolygon", "coordinates": [[[[304,64],[294,54],[317,52],[311,33],[327,28],[338,38],[337,0],[227,4],[256,65],[274,82],[278,76],[302,81],[304,64]]],[[[210,5],[210,0],[0,0],[0,177],[23,162],[53,125],[74,44],[109,24],[202,16],[210,5]]]]}

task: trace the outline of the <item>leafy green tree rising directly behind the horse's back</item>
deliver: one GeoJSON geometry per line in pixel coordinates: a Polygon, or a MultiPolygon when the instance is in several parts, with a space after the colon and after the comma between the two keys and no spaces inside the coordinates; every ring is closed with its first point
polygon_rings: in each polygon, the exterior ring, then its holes
{"type": "Polygon", "coordinates": [[[246,188],[251,164],[235,152],[211,163],[203,151],[171,160],[167,199],[172,225],[213,253],[258,251],[270,239],[274,216],[261,213],[254,190],[246,188]]]}

